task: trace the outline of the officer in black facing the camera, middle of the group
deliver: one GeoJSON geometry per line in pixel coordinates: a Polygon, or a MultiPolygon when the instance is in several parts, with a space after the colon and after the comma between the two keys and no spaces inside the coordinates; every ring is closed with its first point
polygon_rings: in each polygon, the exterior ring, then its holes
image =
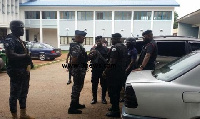
{"type": "Polygon", "coordinates": [[[105,69],[105,65],[107,64],[107,54],[108,54],[108,48],[106,46],[102,46],[102,36],[96,37],[96,47],[93,47],[90,50],[90,53],[88,57],[91,60],[91,66],[92,66],[92,95],[93,99],[91,104],[97,103],[97,88],[100,78],[100,84],[102,87],[102,103],[107,104],[107,101],[105,99],[106,97],[106,80],[102,77],[102,73],[105,69]]]}

